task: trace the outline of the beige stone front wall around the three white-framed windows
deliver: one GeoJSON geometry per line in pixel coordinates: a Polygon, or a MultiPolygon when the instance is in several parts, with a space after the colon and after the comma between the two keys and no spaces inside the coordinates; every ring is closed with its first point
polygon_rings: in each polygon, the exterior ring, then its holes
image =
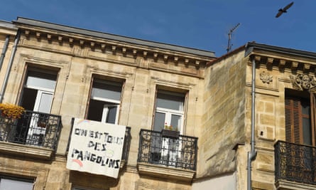
{"type": "MultiPolygon", "coordinates": [[[[190,181],[138,174],[138,136],[141,129],[151,130],[157,88],[187,93],[183,133],[193,137],[200,135],[204,65],[185,63],[184,59],[154,59],[142,53],[132,55],[113,52],[111,48],[101,51],[89,46],[80,47],[77,43],[69,44],[67,41],[49,41],[43,36],[36,38],[34,34],[26,36],[22,33],[4,101],[18,103],[20,100],[26,67],[56,70],[58,79],[51,113],[62,116],[56,156],[48,161],[21,157],[21,154],[0,157],[0,166],[5,168],[1,172],[16,175],[17,171],[23,171],[21,176],[36,178],[35,189],[70,189],[74,185],[95,189],[190,189],[190,181]],[[119,125],[131,127],[131,147],[129,159],[126,167],[121,169],[119,179],[65,168],[71,120],[72,117],[85,117],[93,75],[124,81],[119,125]],[[11,171],[10,167],[15,167],[16,171],[11,171]]],[[[199,59],[194,55],[190,55],[190,58],[199,59]]]]}

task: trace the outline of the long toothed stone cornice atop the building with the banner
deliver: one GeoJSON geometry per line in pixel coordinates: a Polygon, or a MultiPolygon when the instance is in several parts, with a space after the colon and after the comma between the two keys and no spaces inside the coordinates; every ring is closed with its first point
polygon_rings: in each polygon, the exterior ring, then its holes
{"type": "Polygon", "coordinates": [[[80,48],[90,48],[92,51],[102,51],[103,53],[119,54],[121,56],[143,57],[153,61],[163,63],[183,63],[184,65],[194,65],[197,68],[204,68],[212,57],[198,56],[181,51],[173,51],[164,48],[151,46],[141,46],[134,43],[123,41],[114,41],[107,38],[97,38],[94,36],[85,36],[78,33],[67,33],[54,31],[47,28],[35,26],[18,26],[21,35],[26,38],[36,38],[37,41],[47,41],[48,43],[59,43],[60,46],[80,46],[80,48]]]}

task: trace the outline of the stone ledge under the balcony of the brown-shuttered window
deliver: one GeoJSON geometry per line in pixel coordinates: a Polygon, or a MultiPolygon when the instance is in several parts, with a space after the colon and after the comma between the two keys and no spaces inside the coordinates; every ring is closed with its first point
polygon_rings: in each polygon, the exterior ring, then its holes
{"type": "Polygon", "coordinates": [[[301,184],[295,181],[280,180],[280,181],[276,181],[276,189],[278,190],[316,190],[316,186],[312,184],[301,184]]]}

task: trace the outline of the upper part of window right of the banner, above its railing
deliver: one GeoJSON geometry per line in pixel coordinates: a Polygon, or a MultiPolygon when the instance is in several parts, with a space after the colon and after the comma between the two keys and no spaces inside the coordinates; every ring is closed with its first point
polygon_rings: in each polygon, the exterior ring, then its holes
{"type": "Polygon", "coordinates": [[[161,131],[165,126],[182,132],[185,95],[158,90],[153,130],[161,131]]]}

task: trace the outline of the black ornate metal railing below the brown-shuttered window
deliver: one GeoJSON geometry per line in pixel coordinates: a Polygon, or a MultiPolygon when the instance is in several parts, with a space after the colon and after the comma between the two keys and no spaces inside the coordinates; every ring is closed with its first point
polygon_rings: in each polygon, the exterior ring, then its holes
{"type": "Polygon", "coordinates": [[[278,141],[274,153],[276,181],[316,184],[316,147],[278,141]]]}

